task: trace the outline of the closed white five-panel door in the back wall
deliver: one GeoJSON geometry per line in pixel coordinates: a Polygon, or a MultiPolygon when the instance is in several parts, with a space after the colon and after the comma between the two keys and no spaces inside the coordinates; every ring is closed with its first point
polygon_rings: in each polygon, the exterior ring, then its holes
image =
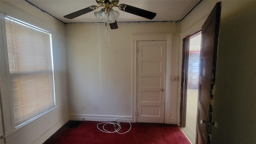
{"type": "Polygon", "coordinates": [[[137,122],[164,123],[166,41],[137,42],[137,122]]]}

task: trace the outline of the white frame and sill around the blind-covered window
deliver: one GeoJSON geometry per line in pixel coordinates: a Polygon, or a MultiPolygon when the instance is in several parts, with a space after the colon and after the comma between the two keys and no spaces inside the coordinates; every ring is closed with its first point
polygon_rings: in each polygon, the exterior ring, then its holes
{"type": "MultiPolygon", "coordinates": [[[[5,17],[6,14],[1,13],[1,25],[0,28],[1,30],[1,42],[0,42],[0,77],[1,77],[1,105],[2,105],[2,116],[3,118],[3,125],[5,126],[4,128],[4,138],[5,141],[9,141],[12,138],[15,138],[18,136],[18,134],[28,130],[33,124],[38,123],[38,118],[46,118],[50,114],[58,111],[61,109],[61,107],[56,106],[56,84],[55,84],[55,71],[54,71],[54,62],[53,62],[53,54],[52,54],[52,36],[50,32],[43,30],[41,28],[38,28],[38,30],[42,32],[47,32],[50,34],[50,43],[51,43],[51,57],[52,57],[52,70],[53,70],[53,87],[54,87],[54,107],[42,114],[39,114],[38,116],[32,118],[31,120],[28,120],[27,122],[24,122],[23,124],[16,126],[14,124],[14,113],[13,113],[13,108],[12,108],[12,98],[11,98],[11,91],[10,91],[10,73],[9,73],[9,68],[8,68],[8,52],[7,52],[7,45],[6,45],[6,31],[5,31],[5,17]],[[28,126],[30,124],[30,126],[28,126]],[[15,134],[14,134],[15,133],[15,134]],[[8,138],[8,140],[6,140],[8,138]]],[[[12,17],[10,17],[12,18],[12,17]]],[[[15,19],[15,18],[13,18],[15,19]]],[[[17,20],[17,19],[15,19],[17,20]]],[[[20,21],[20,20],[18,20],[20,21]]],[[[22,21],[20,21],[22,22],[22,21]]],[[[26,22],[23,22],[27,24],[26,22]]],[[[28,24],[28,26],[33,26],[31,24],[28,24]]],[[[37,28],[36,26],[33,26],[34,28],[37,28]]]]}

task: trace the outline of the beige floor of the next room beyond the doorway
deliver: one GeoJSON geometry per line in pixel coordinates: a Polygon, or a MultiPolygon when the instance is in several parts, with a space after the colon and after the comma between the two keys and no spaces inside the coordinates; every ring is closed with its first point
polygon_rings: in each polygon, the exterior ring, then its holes
{"type": "Polygon", "coordinates": [[[183,132],[186,134],[192,144],[195,144],[196,141],[197,96],[197,89],[188,89],[186,127],[182,128],[183,132]]]}

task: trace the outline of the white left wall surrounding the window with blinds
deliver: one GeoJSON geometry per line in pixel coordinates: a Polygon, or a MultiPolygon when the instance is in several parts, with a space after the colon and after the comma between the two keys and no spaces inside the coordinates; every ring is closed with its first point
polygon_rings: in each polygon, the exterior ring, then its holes
{"type": "MultiPolygon", "coordinates": [[[[62,22],[43,13],[24,0],[0,1],[1,13],[48,30],[52,34],[52,49],[55,74],[56,107],[28,124],[14,129],[10,99],[6,88],[6,74],[1,45],[1,96],[4,119],[4,136],[7,144],[43,143],[68,120],[68,95],[66,74],[65,26],[62,22]],[[5,80],[4,80],[5,79],[5,80]]],[[[1,36],[2,37],[2,36],[1,36]]],[[[2,142],[2,139],[1,139],[2,142]]]]}

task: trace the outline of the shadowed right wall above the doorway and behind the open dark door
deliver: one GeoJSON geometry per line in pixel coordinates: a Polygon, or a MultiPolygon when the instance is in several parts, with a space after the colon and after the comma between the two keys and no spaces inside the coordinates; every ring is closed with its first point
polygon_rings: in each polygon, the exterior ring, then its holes
{"type": "MultiPolygon", "coordinates": [[[[201,2],[182,21],[181,51],[182,39],[202,27],[216,2],[201,2]]],[[[212,144],[256,143],[255,17],[256,1],[222,2],[212,144]]]]}

